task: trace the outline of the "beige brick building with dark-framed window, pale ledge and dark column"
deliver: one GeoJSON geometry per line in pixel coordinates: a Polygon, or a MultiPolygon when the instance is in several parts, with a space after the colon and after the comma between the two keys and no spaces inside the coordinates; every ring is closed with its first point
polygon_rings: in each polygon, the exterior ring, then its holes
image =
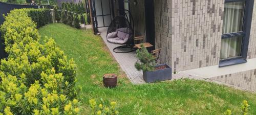
{"type": "Polygon", "coordinates": [[[111,1],[113,16],[128,5],[135,36],[161,49],[159,63],[174,72],[256,90],[254,0],[111,1]]]}

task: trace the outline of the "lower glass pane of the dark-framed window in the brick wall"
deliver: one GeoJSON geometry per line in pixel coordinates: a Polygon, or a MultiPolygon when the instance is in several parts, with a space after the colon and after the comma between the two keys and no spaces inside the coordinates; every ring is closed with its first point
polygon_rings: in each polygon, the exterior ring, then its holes
{"type": "Polygon", "coordinates": [[[242,36],[230,37],[221,40],[220,59],[228,59],[241,56],[242,36]]]}

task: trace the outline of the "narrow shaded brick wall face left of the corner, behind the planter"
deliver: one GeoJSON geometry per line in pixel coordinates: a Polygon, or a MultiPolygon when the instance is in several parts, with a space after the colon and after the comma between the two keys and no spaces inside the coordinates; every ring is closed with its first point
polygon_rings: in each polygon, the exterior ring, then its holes
{"type": "Polygon", "coordinates": [[[156,49],[161,48],[160,63],[171,65],[172,61],[172,13],[171,1],[155,0],[156,49]]]}

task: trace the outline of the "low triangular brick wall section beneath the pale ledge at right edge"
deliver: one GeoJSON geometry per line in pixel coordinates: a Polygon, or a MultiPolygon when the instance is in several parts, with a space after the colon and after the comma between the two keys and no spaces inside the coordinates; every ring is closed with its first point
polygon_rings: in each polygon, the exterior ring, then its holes
{"type": "Polygon", "coordinates": [[[210,80],[256,91],[256,70],[213,77],[210,80]]]}

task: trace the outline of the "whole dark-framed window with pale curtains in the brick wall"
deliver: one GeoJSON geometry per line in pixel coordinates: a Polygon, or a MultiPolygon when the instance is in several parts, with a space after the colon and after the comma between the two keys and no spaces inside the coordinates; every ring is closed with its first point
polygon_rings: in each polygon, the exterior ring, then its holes
{"type": "Polygon", "coordinates": [[[251,0],[225,0],[220,65],[244,63],[250,34],[251,0]]]}

